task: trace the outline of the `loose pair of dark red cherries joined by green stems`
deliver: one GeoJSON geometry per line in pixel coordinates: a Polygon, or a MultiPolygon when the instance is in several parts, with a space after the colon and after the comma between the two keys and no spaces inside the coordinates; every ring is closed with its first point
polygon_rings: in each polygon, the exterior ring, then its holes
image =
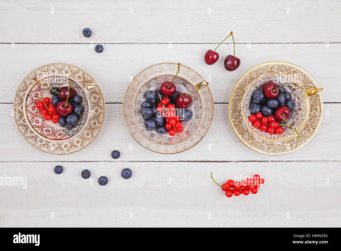
{"type": "MultiPolygon", "coordinates": [[[[227,55],[227,57],[224,60],[224,67],[228,71],[234,71],[239,67],[240,59],[235,57],[235,43],[234,43],[234,39],[233,39],[233,32],[231,31],[231,33],[219,45],[221,45],[229,36],[232,36],[232,40],[233,40],[233,56],[231,54],[227,55]]],[[[214,51],[208,50],[205,53],[204,60],[205,60],[206,64],[213,65],[215,62],[218,61],[219,54],[218,54],[218,52],[216,52],[218,46],[216,47],[216,49],[214,51]]]]}

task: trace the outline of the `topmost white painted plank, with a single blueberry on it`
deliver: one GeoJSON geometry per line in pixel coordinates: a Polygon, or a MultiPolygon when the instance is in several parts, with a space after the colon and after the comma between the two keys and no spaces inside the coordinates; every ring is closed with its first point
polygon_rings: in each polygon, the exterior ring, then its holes
{"type": "Polygon", "coordinates": [[[220,43],[231,30],[238,43],[341,42],[340,8],[333,0],[2,0],[0,42],[220,43]]]}

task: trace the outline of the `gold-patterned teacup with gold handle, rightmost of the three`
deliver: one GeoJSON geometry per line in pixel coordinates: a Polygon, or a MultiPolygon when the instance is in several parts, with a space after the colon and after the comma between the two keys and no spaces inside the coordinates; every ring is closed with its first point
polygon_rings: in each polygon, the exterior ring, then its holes
{"type": "Polygon", "coordinates": [[[274,82],[278,86],[284,85],[285,92],[291,94],[291,99],[295,101],[295,108],[291,109],[291,116],[289,117],[286,125],[290,125],[295,128],[299,134],[299,131],[305,126],[309,117],[310,104],[309,96],[322,90],[322,88],[312,89],[307,91],[303,86],[294,79],[292,76],[285,74],[268,74],[264,75],[259,79],[256,79],[246,90],[242,99],[242,117],[243,122],[246,123],[248,129],[256,137],[267,140],[267,141],[283,141],[290,139],[291,137],[297,137],[296,131],[289,126],[283,126],[282,134],[270,134],[267,131],[254,127],[252,122],[249,121],[250,116],[250,102],[252,94],[255,90],[261,90],[265,83],[274,82]],[[294,84],[292,84],[294,83],[294,84]]]}

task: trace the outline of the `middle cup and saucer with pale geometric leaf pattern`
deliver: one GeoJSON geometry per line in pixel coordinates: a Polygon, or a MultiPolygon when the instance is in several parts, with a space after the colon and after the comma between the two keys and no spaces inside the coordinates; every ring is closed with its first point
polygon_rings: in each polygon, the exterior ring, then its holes
{"type": "MultiPolygon", "coordinates": [[[[191,95],[192,104],[189,108],[193,117],[184,121],[182,133],[173,137],[161,135],[156,131],[148,131],[142,119],[141,102],[145,101],[147,90],[157,90],[159,86],[170,81],[178,70],[178,64],[162,63],[148,67],[138,73],[129,84],[123,99],[123,118],[129,133],[145,148],[158,153],[178,153],[196,145],[207,133],[213,118],[213,98],[210,89],[194,92],[191,95]]],[[[174,83],[179,92],[193,92],[203,78],[192,69],[181,65],[174,83]]]]}

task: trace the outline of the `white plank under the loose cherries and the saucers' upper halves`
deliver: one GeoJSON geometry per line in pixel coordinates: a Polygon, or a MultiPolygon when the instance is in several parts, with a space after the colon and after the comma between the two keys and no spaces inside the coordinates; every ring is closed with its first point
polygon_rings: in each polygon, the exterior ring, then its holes
{"type": "Polygon", "coordinates": [[[161,62],[180,62],[206,80],[214,102],[228,102],[238,79],[249,69],[268,61],[286,61],[310,73],[323,87],[325,102],[341,102],[337,83],[341,68],[341,44],[247,44],[236,45],[240,67],[228,72],[224,58],[232,53],[230,44],[221,46],[221,58],[206,65],[203,56],[213,44],[106,44],[98,54],[86,44],[0,44],[0,102],[13,102],[20,82],[32,70],[53,62],[73,64],[87,71],[99,83],[106,102],[122,102],[130,80],[143,69],[161,62]],[[210,76],[210,77],[209,77],[210,76]]]}

